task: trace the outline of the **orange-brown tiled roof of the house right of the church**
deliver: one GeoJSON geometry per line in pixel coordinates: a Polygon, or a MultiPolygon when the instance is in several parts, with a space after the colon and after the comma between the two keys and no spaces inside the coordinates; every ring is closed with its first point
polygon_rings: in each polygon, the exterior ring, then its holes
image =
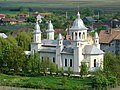
{"type": "Polygon", "coordinates": [[[100,31],[100,43],[110,43],[112,40],[120,40],[120,29],[112,29],[111,32],[100,31]]]}

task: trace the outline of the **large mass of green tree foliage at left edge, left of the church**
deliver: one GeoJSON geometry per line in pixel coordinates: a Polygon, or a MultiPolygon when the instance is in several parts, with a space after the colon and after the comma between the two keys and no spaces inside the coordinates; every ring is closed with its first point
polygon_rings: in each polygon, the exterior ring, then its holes
{"type": "Polygon", "coordinates": [[[2,72],[15,73],[22,69],[23,61],[25,60],[25,53],[23,49],[16,45],[16,40],[9,36],[6,39],[1,38],[0,62],[2,72]]]}

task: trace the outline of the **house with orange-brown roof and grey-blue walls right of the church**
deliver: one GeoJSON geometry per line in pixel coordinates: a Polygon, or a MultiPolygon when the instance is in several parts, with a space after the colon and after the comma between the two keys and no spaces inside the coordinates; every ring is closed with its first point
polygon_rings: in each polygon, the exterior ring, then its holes
{"type": "Polygon", "coordinates": [[[101,50],[120,54],[120,29],[102,30],[99,37],[101,50]]]}

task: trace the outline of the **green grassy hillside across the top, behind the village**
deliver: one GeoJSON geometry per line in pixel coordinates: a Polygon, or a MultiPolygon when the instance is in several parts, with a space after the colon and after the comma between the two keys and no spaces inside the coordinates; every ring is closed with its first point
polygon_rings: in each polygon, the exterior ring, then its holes
{"type": "Polygon", "coordinates": [[[34,11],[77,10],[79,8],[102,9],[105,12],[119,11],[120,0],[0,0],[0,13],[13,11],[20,7],[32,8],[34,11]]]}

